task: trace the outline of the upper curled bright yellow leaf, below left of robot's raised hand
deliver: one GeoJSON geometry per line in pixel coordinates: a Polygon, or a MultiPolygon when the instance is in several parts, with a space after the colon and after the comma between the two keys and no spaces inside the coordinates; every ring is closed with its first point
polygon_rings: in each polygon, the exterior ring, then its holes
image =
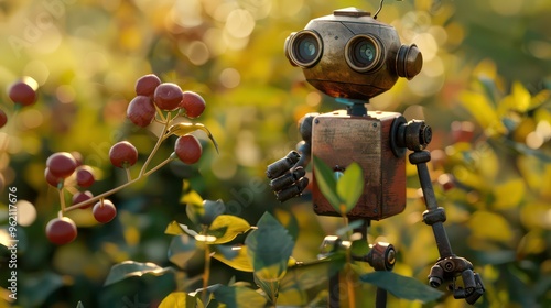
{"type": "Polygon", "coordinates": [[[207,234],[216,237],[216,241],[210,244],[224,244],[249,230],[250,224],[247,220],[237,216],[220,215],[213,221],[207,234]]]}

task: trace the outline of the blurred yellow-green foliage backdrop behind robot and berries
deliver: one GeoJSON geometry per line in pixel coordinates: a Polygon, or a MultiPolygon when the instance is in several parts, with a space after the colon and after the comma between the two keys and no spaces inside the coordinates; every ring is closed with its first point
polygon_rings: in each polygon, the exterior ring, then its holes
{"type": "MultiPolygon", "coordinates": [[[[311,19],[344,7],[374,12],[378,1],[1,1],[0,85],[7,88],[21,76],[40,85],[39,102],[17,117],[1,94],[10,118],[0,130],[9,139],[0,169],[6,187],[17,187],[18,198],[29,201],[19,204],[17,305],[155,307],[175,288],[174,277],[102,284],[110,266],[125,260],[170,264],[171,237],[163,231],[172,220],[186,220],[183,178],[203,198],[224,199],[229,213],[251,223],[269,210],[296,224],[293,256],[315,258],[324,235],[342,221],[315,217],[307,194],[277,202],[264,168],[294,148],[303,114],[342,108],[303,80],[288,63],[283,42],[311,19]],[[50,244],[44,227],[60,205],[43,179],[46,157],[79,152],[99,175],[95,194],[122,183],[125,174],[109,164],[109,147],[129,140],[145,157],[154,142],[154,130],[136,129],[125,118],[136,79],[149,73],[206,99],[198,121],[213,132],[220,153],[203,136],[198,165],[172,164],[117,194],[119,215],[107,226],[96,226],[89,212],[71,212],[77,240],[50,244]]],[[[469,258],[486,283],[480,307],[551,305],[550,13],[548,0],[389,0],[378,16],[403,43],[418,44],[424,66],[413,80],[399,80],[372,99],[370,108],[423,118],[433,127],[435,189],[454,252],[469,258]]],[[[161,148],[159,161],[172,146],[161,148]]],[[[406,212],[374,222],[370,241],[391,242],[399,253],[395,271],[425,282],[437,251],[421,221],[413,168],[409,175],[406,212]]],[[[1,196],[6,227],[7,189],[1,196]]],[[[0,242],[7,239],[1,231],[0,242]]],[[[9,252],[1,253],[4,286],[9,252]]],[[[201,272],[202,264],[194,265],[201,272]]],[[[217,266],[213,280],[227,283],[235,275],[217,266]]],[[[9,292],[1,295],[0,307],[9,306],[9,292]]],[[[464,305],[446,297],[429,306],[464,305]]]]}

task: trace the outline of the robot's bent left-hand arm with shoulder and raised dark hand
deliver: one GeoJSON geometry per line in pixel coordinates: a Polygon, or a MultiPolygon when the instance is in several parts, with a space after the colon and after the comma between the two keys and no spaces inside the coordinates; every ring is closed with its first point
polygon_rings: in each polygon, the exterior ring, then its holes
{"type": "Polygon", "coordinates": [[[266,176],[271,179],[270,186],[281,202],[300,196],[309,184],[307,177],[304,177],[306,174],[304,168],[310,163],[312,121],[315,116],[317,113],[309,113],[299,122],[303,140],[296,146],[298,152],[289,152],[285,157],[272,163],[266,170],[266,176]]]}

